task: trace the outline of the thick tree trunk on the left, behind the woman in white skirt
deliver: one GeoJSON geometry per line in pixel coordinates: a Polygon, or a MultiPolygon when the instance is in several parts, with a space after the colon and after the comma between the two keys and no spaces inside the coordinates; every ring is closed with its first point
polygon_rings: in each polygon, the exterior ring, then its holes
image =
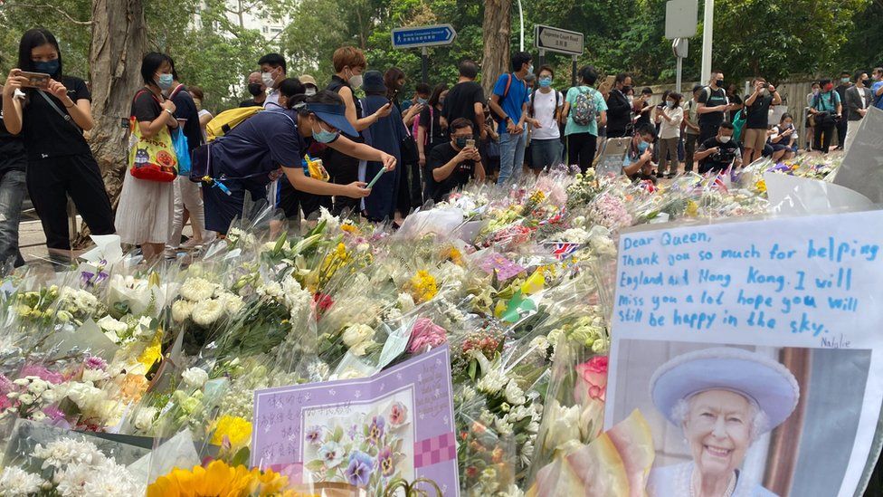
{"type": "Polygon", "coordinates": [[[95,128],[90,145],[114,208],[126,173],[128,117],[132,97],[141,86],[146,49],[142,0],[92,0],[89,66],[95,128]]]}

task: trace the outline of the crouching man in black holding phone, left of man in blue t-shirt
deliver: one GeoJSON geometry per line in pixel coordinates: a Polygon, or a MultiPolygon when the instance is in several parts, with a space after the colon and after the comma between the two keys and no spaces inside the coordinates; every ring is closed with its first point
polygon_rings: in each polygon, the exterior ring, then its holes
{"type": "Polygon", "coordinates": [[[484,181],[484,167],[479,149],[470,145],[474,139],[472,122],[460,118],[451,122],[451,141],[432,148],[426,181],[426,198],[442,202],[454,189],[466,186],[470,179],[484,181]]]}

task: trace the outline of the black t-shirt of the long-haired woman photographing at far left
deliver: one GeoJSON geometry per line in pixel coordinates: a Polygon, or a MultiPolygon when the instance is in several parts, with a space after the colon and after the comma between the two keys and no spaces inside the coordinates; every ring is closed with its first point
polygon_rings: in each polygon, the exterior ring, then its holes
{"type": "MultiPolygon", "coordinates": [[[[73,76],[62,76],[62,84],[68,89],[68,97],[77,103],[79,100],[91,100],[86,81],[73,76]]],[[[73,122],[66,120],[52,109],[52,105],[44,99],[39,91],[28,90],[27,99],[24,102],[24,116],[22,122],[22,135],[24,148],[27,150],[29,160],[43,158],[75,156],[89,154],[89,144],[82,136],[82,130],[73,122]]],[[[58,100],[49,93],[49,97],[55,106],[64,115],[70,115],[64,108],[62,100],[58,100]]]]}

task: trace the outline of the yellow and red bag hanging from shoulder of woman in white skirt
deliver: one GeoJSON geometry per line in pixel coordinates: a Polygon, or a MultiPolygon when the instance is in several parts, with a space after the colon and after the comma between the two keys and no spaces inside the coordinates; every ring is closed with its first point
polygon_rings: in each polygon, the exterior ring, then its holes
{"type": "MultiPolygon", "coordinates": [[[[138,91],[135,98],[146,90],[138,91]]],[[[157,102],[159,101],[154,97],[157,102]]],[[[141,134],[138,119],[128,119],[129,139],[128,172],[133,177],[147,181],[170,183],[178,176],[178,158],[172,135],[163,126],[155,137],[145,138],[141,134]]]]}

